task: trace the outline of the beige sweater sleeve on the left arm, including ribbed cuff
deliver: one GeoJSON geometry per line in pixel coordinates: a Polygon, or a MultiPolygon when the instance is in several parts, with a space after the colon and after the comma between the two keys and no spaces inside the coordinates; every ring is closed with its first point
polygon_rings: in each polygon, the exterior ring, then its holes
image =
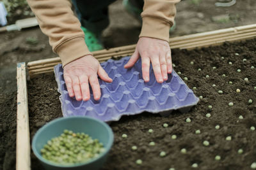
{"type": "Polygon", "coordinates": [[[49,36],[52,50],[60,55],[63,66],[91,54],[84,41],[84,32],[68,0],[27,0],[35,13],[40,29],[49,36]]]}

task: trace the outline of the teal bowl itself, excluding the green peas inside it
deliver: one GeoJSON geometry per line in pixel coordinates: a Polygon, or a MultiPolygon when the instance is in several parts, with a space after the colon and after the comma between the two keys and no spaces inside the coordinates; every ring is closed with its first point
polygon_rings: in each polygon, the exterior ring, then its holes
{"type": "Polygon", "coordinates": [[[107,159],[107,155],[113,145],[113,132],[108,124],[90,117],[66,117],[57,118],[41,127],[35,134],[32,141],[32,150],[40,160],[45,169],[51,170],[81,170],[81,169],[100,169],[107,159]],[[94,159],[84,162],[83,164],[60,165],[50,162],[42,157],[40,150],[47,141],[54,137],[60,136],[65,129],[73,132],[84,132],[93,139],[99,139],[104,145],[104,152],[94,159]]]}

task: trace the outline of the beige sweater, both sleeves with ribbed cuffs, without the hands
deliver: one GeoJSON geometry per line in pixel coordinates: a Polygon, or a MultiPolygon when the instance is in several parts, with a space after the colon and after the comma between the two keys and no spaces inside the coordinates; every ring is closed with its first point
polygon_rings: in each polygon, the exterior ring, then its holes
{"type": "MultiPolygon", "coordinates": [[[[179,1],[145,0],[140,37],[169,41],[169,29],[176,14],[175,4],[179,1]]],[[[42,32],[49,36],[52,50],[60,55],[63,66],[90,54],[81,24],[71,10],[69,0],[28,0],[28,3],[42,32]]]]}

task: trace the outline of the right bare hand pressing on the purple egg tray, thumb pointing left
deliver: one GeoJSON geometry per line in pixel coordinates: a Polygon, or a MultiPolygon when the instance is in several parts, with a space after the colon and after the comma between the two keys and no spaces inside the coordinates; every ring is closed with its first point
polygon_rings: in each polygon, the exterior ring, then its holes
{"type": "Polygon", "coordinates": [[[150,62],[158,83],[168,80],[168,73],[172,73],[172,55],[167,41],[155,38],[141,37],[131,59],[125,68],[134,66],[141,57],[141,67],[144,81],[149,81],[150,62]]]}

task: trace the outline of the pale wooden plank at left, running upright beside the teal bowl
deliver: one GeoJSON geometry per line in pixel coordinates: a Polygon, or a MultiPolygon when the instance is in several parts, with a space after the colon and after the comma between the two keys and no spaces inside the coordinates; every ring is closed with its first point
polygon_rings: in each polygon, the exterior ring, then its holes
{"type": "Polygon", "coordinates": [[[28,92],[26,81],[26,64],[17,64],[17,139],[16,169],[30,170],[30,139],[28,117],[28,92]]]}

